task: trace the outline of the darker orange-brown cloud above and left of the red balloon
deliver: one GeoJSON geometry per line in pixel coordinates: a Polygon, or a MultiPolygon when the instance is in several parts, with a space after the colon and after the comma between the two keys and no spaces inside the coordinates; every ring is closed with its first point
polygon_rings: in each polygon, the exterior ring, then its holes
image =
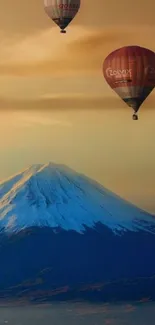
{"type": "Polygon", "coordinates": [[[152,32],[155,28],[115,27],[94,30],[85,37],[73,40],[68,50],[84,62],[86,68],[99,69],[105,57],[115,49],[126,45],[140,45],[155,50],[152,32]]]}

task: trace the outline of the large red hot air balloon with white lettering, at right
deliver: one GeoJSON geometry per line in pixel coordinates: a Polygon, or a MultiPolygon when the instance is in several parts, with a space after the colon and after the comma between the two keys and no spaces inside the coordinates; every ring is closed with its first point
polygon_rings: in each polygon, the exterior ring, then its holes
{"type": "Polygon", "coordinates": [[[133,108],[133,120],[155,87],[155,53],[140,46],[125,46],[110,53],[103,63],[109,86],[133,108]]]}

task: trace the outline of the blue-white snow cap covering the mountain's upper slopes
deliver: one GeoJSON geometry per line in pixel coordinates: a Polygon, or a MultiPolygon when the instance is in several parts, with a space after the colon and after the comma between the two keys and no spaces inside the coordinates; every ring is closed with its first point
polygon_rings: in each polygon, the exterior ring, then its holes
{"type": "Polygon", "coordinates": [[[155,218],[72,169],[33,165],[0,183],[0,229],[38,226],[84,233],[100,222],[113,232],[155,233],[155,218]]]}

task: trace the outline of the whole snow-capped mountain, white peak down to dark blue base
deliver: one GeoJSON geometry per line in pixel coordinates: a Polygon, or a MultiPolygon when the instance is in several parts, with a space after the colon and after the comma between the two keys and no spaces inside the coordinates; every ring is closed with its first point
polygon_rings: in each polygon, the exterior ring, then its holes
{"type": "Polygon", "coordinates": [[[0,299],[155,299],[155,217],[63,165],[0,184],[0,299]]]}

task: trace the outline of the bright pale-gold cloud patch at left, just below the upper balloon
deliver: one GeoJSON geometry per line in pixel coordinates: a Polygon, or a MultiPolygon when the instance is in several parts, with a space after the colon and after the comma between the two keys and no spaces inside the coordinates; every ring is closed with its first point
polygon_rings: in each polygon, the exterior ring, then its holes
{"type": "MultiPolygon", "coordinates": [[[[89,32],[90,33],[90,32],[89,32]]],[[[35,64],[46,60],[62,58],[67,44],[80,35],[87,35],[84,28],[73,28],[67,38],[57,32],[57,28],[32,33],[28,36],[6,36],[1,33],[0,59],[1,64],[35,64]],[[62,52],[61,52],[62,51],[62,52]]]]}

